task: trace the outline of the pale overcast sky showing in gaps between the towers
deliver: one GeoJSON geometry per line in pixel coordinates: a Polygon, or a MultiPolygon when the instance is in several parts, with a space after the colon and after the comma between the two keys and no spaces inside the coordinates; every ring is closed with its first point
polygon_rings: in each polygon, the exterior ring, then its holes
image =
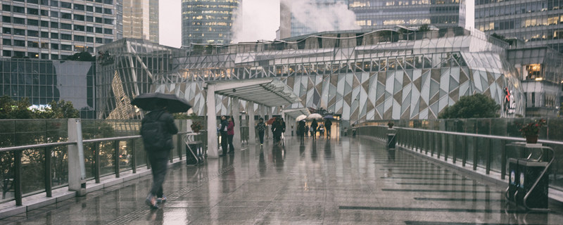
{"type": "MultiPolygon", "coordinates": [[[[279,0],[242,0],[242,2],[242,27],[237,29],[239,32],[236,40],[274,40],[276,30],[279,28],[279,0]]],[[[160,1],[159,15],[160,44],[177,48],[182,46],[181,0],[160,1]]],[[[473,16],[474,0],[467,0],[466,27],[473,27],[473,16]]]]}

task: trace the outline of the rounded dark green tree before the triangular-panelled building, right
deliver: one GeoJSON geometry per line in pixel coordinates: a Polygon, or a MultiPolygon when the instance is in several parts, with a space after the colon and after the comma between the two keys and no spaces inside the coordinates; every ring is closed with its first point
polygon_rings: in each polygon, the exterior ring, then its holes
{"type": "Polygon", "coordinates": [[[440,119],[453,118],[491,118],[498,116],[500,105],[484,94],[462,96],[454,105],[444,108],[440,119]]]}

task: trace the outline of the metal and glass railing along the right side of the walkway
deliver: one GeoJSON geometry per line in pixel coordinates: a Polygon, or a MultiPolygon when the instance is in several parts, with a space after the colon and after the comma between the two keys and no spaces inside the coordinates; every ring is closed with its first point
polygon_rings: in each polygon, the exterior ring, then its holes
{"type": "MultiPolygon", "coordinates": [[[[387,127],[362,126],[355,129],[357,135],[386,141],[387,127]]],[[[498,172],[500,179],[506,178],[508,158],[525,158],[521,150],[507,146],[514,142],[524,142],[524,138],[404,127],[395,129],[399,146],[445,162],[461,162],[462,167],[469,167],[467,169],[484,169],[486,174],[498,172]]],[[[538,140],[538,143],[555,150],[555,155],[545,154],[543,157],[544,160],[555,158],[550,168],[550,187],[563,190],[563,142],[538,140]]]]}

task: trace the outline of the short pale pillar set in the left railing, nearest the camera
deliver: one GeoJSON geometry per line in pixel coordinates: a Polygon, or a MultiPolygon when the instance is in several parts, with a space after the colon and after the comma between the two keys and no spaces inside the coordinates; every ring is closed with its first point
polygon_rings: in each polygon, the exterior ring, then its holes
{"type": "Polygon", "coordinates": [[[82,145],[82,122],[68,119],[68,190],[76,191],[77,196],[86,195],[86,167],[84,167],[84,146],[82,145]]]}

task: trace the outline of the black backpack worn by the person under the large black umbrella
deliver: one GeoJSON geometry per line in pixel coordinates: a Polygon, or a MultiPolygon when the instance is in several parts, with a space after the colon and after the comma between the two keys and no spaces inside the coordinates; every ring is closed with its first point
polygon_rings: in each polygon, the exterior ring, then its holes
{"type": "Polygon", "coordinates": [[[164,112],[160,112],[156,116],[156,120],[151,117],[146,117],[146,121],[141,127],[141,136],[143,136],[143,143],[145,149],[163,148],[166,146],[167,139],[165,137],[165,129],[163,123],[158,121],[164,112]]]}

